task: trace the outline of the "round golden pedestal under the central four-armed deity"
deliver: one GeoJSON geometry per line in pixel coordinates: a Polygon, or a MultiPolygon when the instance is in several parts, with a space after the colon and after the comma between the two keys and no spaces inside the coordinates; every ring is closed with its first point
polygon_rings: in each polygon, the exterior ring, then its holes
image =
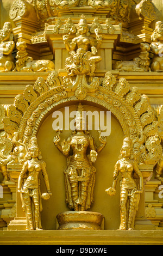
{"type": "Polygon", "coordinates": [[[104,216],[92,211],[66,211],[57,215],[58,230],[101,230],[104,216]]]}

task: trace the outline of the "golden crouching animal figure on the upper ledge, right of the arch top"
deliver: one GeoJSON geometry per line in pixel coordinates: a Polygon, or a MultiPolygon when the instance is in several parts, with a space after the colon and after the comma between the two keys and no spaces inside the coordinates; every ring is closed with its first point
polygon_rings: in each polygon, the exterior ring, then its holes
{"type": "Polygon", "coordinates": [[[126,72],[149,71],[149,65],[151,63],[149,58],[149,51],[151,50],[151,48],[147,43],[141,43],[140,47],[141,47],[141,52],[139,57],[136,57],[133,60],[117,61],[112,65],[112,68],[114,70],[126,71],[126,72]]]}

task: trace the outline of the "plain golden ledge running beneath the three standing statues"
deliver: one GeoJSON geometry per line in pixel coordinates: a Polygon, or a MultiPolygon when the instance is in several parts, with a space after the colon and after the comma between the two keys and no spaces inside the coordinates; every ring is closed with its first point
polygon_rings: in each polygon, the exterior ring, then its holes
{"type": "Polygon", "coordinates": [[[0,231],[0,245],[163,245],[160,230],[0,231]]]}

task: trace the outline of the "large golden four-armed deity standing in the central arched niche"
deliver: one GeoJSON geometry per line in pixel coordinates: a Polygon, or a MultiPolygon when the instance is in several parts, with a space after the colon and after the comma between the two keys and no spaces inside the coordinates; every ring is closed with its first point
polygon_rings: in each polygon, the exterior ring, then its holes
{"type": "Polygon", "coordinates": [[[67,157],[67,167],[64,170],[66,203],[75,211],[85,211],[93,202],[96,169],[92,163],[96,161],[98,153],[106,144],[106,137],[100,135],[101,145],[97,148],[95,139],[83,129],[86,125],[83,111],[83,106],[79,104],[75,119],[76,131],[67,140],[62,141],[60,145],[60,137],[54,137],[54,145],[67,157]],[[87,150],[90,150],[89,155],[87,150]]]}

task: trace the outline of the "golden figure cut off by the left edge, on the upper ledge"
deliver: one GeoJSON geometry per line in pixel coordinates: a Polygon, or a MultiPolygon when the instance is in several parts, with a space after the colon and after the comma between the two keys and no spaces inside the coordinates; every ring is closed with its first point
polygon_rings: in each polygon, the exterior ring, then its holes
{"type": "Polygon", "coordinates": [[[0,72],[12,71],[15,63],[12,57],[12,51],[15,47],[13,41],[12,26],[10,22],[5,22],[0,31],[0,72]]]}

